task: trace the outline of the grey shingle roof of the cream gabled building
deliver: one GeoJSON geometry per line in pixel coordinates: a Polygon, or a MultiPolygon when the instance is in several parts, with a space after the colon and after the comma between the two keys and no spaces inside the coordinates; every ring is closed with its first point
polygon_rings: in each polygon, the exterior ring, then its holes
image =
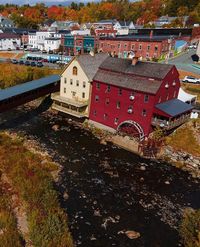
{"type": "Polygon", "coordinates": [[[99,53],[95,56],[90,54],[80,55],[77,57],[77,61],[80,63],[84,72],[90,81],[92,81],[94,75],[96,74],[100,64],[108,57],[107,54],[99,53]]]}

